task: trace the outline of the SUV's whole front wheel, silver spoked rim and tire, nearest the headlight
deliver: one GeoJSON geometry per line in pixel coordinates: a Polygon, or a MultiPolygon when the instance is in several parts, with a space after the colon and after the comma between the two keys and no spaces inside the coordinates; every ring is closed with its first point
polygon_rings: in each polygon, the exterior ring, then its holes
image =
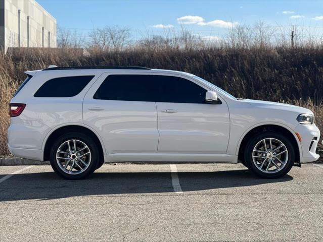
{"type": "Polygon", "coordinates": [[[265,132],[253,136],[247,144],[245,161],[248,168],[262,178],[287,174],[295,161],[295,149],[284,135],[265,132]]]}

